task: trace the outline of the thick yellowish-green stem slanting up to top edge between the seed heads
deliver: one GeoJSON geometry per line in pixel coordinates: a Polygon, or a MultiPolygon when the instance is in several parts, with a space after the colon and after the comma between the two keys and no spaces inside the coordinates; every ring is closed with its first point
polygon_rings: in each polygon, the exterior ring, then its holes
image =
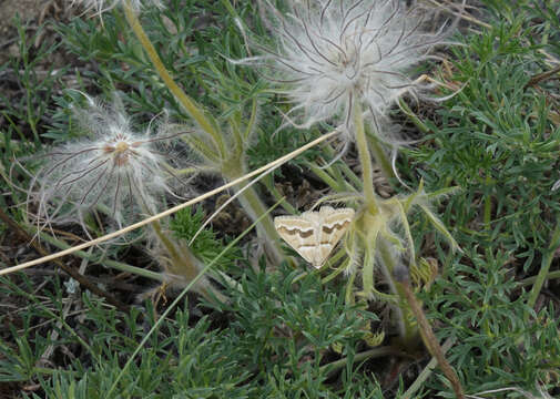
{"type": "Polygon", "coordinates": [[[204,115],[202,108],[175,83],[170,72],[163,64],[157,51],[153,47],[152,42],[147,38],[144,29],[140,24],[140,21],[131,7],[130,0],[125,0],[123,4],[124,16],[126,17],[126,21],[129,22],[132,31],[136,35],[138,40],[144,48],[150,61],[152,61],[153,66],[155,68],[157,74],[163,80],[167,89],[173,93],[175,99],[183,105],[185,111],[191,115],[192,119],[198,123],[198,125],[208,133],[216,143],[223,143],[222,136],[220,132],[216,130],[214,124],[204,115]]]}

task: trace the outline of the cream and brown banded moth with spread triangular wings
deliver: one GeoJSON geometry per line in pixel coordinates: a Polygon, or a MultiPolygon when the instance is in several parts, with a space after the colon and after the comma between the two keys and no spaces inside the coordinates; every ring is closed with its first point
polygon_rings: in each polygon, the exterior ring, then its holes
{"type": "Polygon", "coordinates": [[[314,267],[320,268],[352,223],[354,209],[323,206],[301,216],[277,216],[279,236],[314,267]]]}

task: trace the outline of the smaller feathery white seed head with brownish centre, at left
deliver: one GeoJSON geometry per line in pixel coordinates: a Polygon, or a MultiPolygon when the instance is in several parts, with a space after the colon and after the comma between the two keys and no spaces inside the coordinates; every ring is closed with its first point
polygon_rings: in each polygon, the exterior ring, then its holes
{"type": "Polygon", "coordinates": [[[121,227],[156,213],[165,193],[175,195],[176,158],[170,155],[180,134],[169,134],[165,123],[156,132],[149,126],[135,133],[116,96],[111,106],[86,99],[89,106],[75,110],[75,116],[89,136],[47,153],[32,180],[28,208],[39,226],[83,226],[85,213],[98,208],[121,227]]]}

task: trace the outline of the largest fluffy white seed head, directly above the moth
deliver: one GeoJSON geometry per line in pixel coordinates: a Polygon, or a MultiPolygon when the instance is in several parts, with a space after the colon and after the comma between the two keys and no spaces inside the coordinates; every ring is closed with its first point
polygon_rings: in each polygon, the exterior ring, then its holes
{"type": "Polygon", "coordinates": [[[425,89],[410,70],[441,43],[441,31],[422,31],[426,14],[398,0],[301,0],[286,16],[267,9],[277,49],[259,45],[265,55],[241,62],[264,63],[288,84],[291,114],[303,114],[303,127],[336,120],[347,126],[356,102],[385,115],[405,93],[425,89]]]}

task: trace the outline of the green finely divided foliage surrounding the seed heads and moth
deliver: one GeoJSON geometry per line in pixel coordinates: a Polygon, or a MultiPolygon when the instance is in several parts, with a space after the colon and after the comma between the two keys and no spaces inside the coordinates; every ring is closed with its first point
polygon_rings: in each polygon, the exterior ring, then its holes
{"type": "MultiPolygon", "coordinates": [[[[253,1],[233,3],[243,20],[266,33],[253,1]]],[[[467,6],[452,37],[464,45],[446,48],[439,54],[444,61],[418,71],[445,83],[437,95],[464,89],[436,104],[407,99],[408,114],[391,112],[403,134],[422,137],[400,153],[401,178],[413,187],[421,178],[428,192],[460,187],[435,211],[462,253],[450,253],[425,216],[413,217],[417,253],[432,265],[429,284],[417,294],[467,393],[560,397],[560,191],[552,190],[560,180],[560,3],[467,6]],[[542,278],[544,285],[533,289],[542,278]]],[[[100,19],[60,0],[4,0],[0,16],[0,207],[21,226],[0,224],[0,263],[7,267],[41,255],[22,225],[24,194],[9,183],[10,167],[16,158],[33,160],[45,146],[79,134],[69,105],[80,102],[80,94],[69,89],[100,96],[119,91],[140,125],[164,108],[172,119],[186,116],[119,9],[100,19]]],[[[182,88],[208,110],[225,119],[259,93],[251,168],[320,134],[288,127],[271,135],[283,122],[278,98],[255,89],[262,81],[254,71],[224,60],[243,54],[244,38],[222,1],[171,0],[141,16],[182,88]],[[221,108],[224,103],[228,106],[221,108]]],[[[320,198],[328,186],[309,164],[324,151],[306,152],[265,181],[258,190],[267,205],[275,203],[268,194],[274,191],[297,209],[320,198]]],[[[342,162],[359,173],[353,149],[342,162]]],[[[21,186],[28,180],[16,178],[21,186]]],[[[204,192],[221,180],[204,176],[194,184],[204,192]]],[[[376,190],[406,193],[381,175],[376,190]]],[[[174,215],[174,236],[192,238],[226,198],[174,215]]],[[[232,203],[193,250],[211,262],[250,225],[232,203]]],[[[78,226],[58,233],[57,241],[43,237],[43,250],[83,239],[78,226]]],[[[216,265],[237,282],[222,287],[232,300],[216,305],[190,295],[123,368],[176,295],[146,276],[119,272],[119,264],[159,269],[143,243],[94,248],[1,277],[0,397],[454,397],[424,348],[399,347],[385,303],[347,304],[343,276],[322,280],[303,262],[271,272],[252,250],[251,235],[216,265]],[[80,287],[60,263],[125,309],[80,287]]]]}

